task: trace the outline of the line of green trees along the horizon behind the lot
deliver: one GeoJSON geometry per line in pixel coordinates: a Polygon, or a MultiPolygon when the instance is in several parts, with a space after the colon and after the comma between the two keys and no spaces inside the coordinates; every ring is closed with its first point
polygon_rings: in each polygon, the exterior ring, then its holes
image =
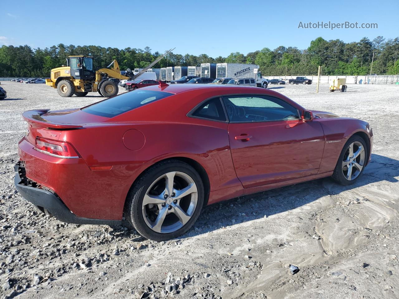
{"type": "MultiPolygon", "coordinates": [[[[0,77],[49,77],[50,70],[66,64],[69,55],[91,55],[95,69],[107,67],[117,59],[120,69],[146,67],[160,55],[149,47],[136,49],[104,48],[100,46],[59,45],[32,49],[28,45],[0,47],[0,77]]],[[[200,63],[255,63],[265,76],[317,75],[322,66],[322,75],[399,75],[399,37],[373,40],[363,37],[360,41],[344,43],[340,39],[326,41],[318,37],[307,49],[279,46],[267,47],[247,53],[233,52],[227,57],[181,55],[169,53],[154,68],[168,66],[191,66],[200,63]],[[374,54],[374,58],[373,58],[374,54]]]]}

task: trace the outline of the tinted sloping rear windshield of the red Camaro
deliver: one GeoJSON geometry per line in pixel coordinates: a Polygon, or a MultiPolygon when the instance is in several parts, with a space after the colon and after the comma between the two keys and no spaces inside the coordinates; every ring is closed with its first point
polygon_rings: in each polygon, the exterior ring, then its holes
{"type": "Polygon", "coordinates": [[[113,117],[171,95],[173,94],[170,92],[136,89],[107,98],[82,110],[90,114],[113,117]]]}

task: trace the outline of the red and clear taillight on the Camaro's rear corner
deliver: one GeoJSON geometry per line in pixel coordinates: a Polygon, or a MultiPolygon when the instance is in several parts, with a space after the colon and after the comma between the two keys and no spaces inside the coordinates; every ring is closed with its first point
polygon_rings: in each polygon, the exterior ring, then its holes
{"type": "Polygon", "coordinates": [[[79,154],[72,144],[65,141],[36,137],[35,149],[54,157],[79,158],[79,154]]]}

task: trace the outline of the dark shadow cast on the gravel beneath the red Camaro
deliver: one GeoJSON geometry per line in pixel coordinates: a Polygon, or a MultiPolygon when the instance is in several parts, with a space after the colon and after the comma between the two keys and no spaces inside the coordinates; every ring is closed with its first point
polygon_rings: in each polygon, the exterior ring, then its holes
{"type": "MultiPolygon", "coordinates": [[[[324,196],[337,195],[371,183],[379,181],[395,183],[398,181],[395,177],[398,176],[398,160],[371,154],[369,165],[353,185],[338,185],[332,178],[327,177],[215,203],[204,207],[194,226],[176,240],[198,236],[226,226],[267,218],[317,201],[324,196]]],[[[123,227],[134,230],[127,221],[123,221],[121,232],[123,227]]],[[[121,226],[114,227],[115,230],[120,230],[120,228],[121,226]]],[[[251,234],[250,230],[248,234],[251,234]]],[[[142,240],[145,238],[138,236],[136,241],[142,240]]]]}

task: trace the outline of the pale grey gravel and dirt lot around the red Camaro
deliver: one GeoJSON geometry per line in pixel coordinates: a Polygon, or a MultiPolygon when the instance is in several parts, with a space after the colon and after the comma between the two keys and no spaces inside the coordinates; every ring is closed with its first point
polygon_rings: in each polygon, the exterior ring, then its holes
{"type": "Polygon", "coordinates": [[[361,118],[372,162],[352,186],[319,179],[205,207],[180,239],[43,217],[14,188],[26,110],[81,107],[46,85],[2,82],[0,298],[398,298],[399,86],[273,85],[302,106],[361,118]],[[288,265],[300,271],[291,275],[288,265]]]}

